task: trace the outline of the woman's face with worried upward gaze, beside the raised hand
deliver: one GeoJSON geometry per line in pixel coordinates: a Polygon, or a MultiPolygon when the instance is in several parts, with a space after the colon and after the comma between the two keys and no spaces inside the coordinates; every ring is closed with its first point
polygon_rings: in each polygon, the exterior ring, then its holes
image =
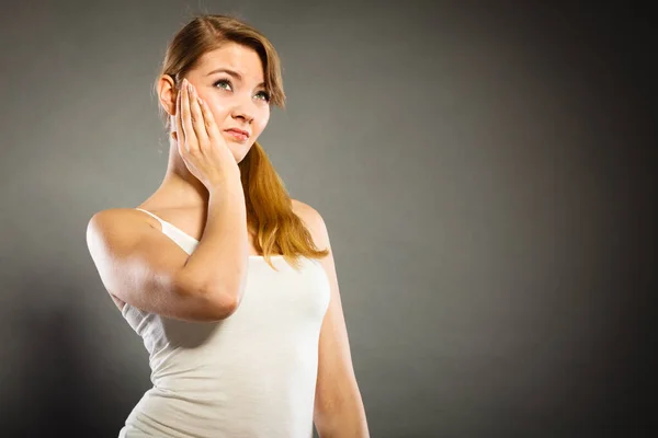
{"type": "MultiPolygon", "coordinates": [[[[270,95],[260,57],[250,47],[227,43],[206,53],[186,78],[213,112],[217,128],[239,163],[270,119],[270,95]],[[229,129],[241,129],[249,136],[241,138],[229,129]]],[[[175,119],[171,122],[175,127],[175,119]]]]}

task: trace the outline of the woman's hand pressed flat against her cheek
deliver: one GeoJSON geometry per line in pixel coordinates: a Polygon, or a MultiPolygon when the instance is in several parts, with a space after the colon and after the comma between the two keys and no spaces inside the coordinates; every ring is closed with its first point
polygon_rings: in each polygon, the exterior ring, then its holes
{"type": "Polygon", "coordinates": [[[207,104],[183,79],[177,96],[174,132],[185,166],[208,188],[222,185],[240,171],[207,104]]]}

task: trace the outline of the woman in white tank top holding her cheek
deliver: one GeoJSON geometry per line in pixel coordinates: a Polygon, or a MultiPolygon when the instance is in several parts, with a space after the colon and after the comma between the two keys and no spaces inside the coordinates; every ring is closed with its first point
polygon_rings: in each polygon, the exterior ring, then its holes
{"type": "Polygon", "coordinates": [[[104,287],[150,355],[120,437],[368,436],[325,222],[291,199],[258,137],[284,106],[280,61],[248,24],[203,15],[156,90],[170,153],[139,208],[93,216],[104,287]]]}

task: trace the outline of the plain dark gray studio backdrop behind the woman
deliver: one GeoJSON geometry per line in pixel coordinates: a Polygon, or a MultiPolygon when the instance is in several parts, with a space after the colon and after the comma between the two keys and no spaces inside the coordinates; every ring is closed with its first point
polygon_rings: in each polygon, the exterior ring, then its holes
{"type": "Polygon", "coordinates": [[[649,14],[309,3],[2,7],[1,435],[113,437],[149,385],[84,232],[158,187],[151,83],[204,11],[280,51],[261,142],[328,224],[373,437],[647,435],[649,14]]]}

